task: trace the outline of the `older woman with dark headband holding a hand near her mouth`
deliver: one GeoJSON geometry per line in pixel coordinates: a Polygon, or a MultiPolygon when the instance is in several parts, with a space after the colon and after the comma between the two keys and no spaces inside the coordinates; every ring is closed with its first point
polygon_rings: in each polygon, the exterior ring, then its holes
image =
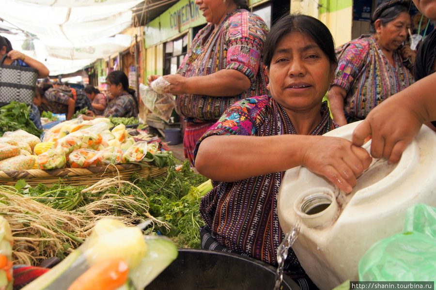
{"type": "Polygon", "coordinates": [[[381,4],[371,19],[372,35],[337,49],[338,68],[327,97],[340,126],[365,119],[371,109],[414,82],[403,64],[415,61],[415,52],[402,46],[411,26],[409,7],[405,0],[381,4]]]}

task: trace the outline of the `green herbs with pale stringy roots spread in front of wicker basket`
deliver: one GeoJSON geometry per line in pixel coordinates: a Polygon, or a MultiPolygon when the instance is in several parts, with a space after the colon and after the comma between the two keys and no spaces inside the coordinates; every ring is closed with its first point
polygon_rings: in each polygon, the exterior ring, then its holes
{"type": "Polygon", "coordinates": [[[144,233],[166,235],[177,247],[200,248],[204,223],[198,207],[211,188],[210,180],[185,161],[162,176],[106,178],[92,186],[29,187],[20,180],[15,186],[0,185],[0,205],[14,236],[14,263],[37,265],[50,257],[64,259],[106,217],[131,226],[152,218],[144,233]]]}

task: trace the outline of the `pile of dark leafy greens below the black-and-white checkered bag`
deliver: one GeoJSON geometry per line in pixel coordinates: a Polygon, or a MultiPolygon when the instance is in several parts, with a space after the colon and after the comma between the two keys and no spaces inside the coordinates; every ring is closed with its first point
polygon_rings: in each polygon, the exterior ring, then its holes
{"type": "Polygon", "coordinates": [[[12,101],[10,104],[0,108],[0,136],[7,131],[22,129],[30,134],[39,137],[42,133],[29,119],[30,106],[25,103],[12,101]]]}

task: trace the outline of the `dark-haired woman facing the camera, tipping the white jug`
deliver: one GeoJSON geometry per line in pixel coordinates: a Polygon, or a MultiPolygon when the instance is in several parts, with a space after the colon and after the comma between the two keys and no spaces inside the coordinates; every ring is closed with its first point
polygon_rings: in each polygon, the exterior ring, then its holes
{"type": "MultiPolygon", "coordinates": [[[[285,170],[304,166],[351,192],[371,157],[346,139],[319,136],[337,127],[322,102],[337,60],[321,21],[281,18],[266,37],[264,61],[271,96],[230,107],[197,143],[195,168],[214,181],[200,205],[202,247],[277,266],[284,238],[277,194],[285,170]]],[[[292,250],[284,269],[301,289],[316,288],[292,250]]]]}

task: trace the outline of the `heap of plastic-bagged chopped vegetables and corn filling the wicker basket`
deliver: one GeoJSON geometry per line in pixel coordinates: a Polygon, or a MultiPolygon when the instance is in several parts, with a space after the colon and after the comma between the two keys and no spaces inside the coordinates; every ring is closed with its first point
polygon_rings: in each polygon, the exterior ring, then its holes
{"type": "Polygon", "coordinates": [[[0,170],[3,171],[123,163],[163,168],[170,158],[168,152],[161,151],[160,139],[137,141],[124,124],[114,126],[107,118],[62,122],[45,133],[43,142],[24,130],[5,132],[0,137],[0,145],[0,170]]]}

